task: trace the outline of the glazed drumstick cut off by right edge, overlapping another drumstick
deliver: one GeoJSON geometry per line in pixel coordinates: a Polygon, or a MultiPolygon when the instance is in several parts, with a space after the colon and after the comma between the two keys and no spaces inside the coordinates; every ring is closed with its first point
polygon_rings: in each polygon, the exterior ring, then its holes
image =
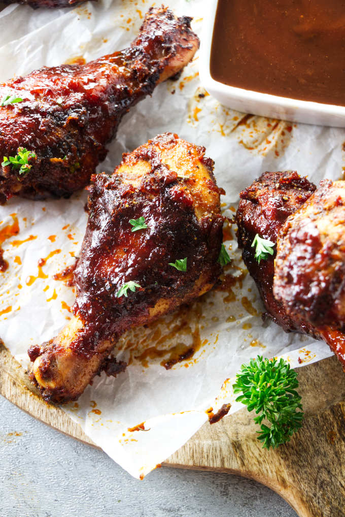
{"type": "Polygon", "coordinates": [[[345,368],[345,181],[320,187],[278,235],[274,297],[315,327],[345,368]]]}

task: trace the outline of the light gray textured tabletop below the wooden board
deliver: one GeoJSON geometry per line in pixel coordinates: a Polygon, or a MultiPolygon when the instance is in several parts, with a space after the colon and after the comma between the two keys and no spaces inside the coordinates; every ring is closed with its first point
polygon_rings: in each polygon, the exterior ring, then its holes
{"type": "Polygon", "coordinates": [[[254,481],[174,468],[137,481],[1,396],[0,413],[0,517],[296,517],[254,481]]]}

